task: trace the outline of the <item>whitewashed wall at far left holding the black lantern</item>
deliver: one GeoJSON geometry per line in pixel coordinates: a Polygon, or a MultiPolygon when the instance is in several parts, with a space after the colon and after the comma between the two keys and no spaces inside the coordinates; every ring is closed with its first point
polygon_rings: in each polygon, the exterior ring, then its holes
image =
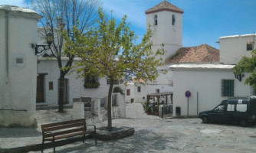
{"type": "Polygon", "coordinates": [[[36,43],[38,37],[39,18],[41,16],[35,11],[26,8],[0,6],[0,125],[37,126],[37,58],[31,43],[36,43]],[[6,11],[8,31],[5,26],[6,11]],[[5,45],[7,37],[8,50],[5,45]],[[17,63],[18,59],[23,61],[17,63]]]}

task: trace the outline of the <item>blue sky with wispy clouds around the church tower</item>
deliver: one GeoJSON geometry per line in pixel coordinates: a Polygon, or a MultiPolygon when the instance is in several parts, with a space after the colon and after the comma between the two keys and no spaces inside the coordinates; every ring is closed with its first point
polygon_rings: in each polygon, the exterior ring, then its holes
{"type": "MultiPolygon", "coordinates": [[[[209,44],[218,47],[219,37],[252,34],[256,31],[256,0],[166,0],[184,10],[183,46],[209,44]]],[[[102,0],[103,9],[117,21],[127,15],[133,31],[146,32],[145,11],[162,0],[102,0]]],[[[28,0],[0,0],[0,5],[25,7],[28,0]]]]}

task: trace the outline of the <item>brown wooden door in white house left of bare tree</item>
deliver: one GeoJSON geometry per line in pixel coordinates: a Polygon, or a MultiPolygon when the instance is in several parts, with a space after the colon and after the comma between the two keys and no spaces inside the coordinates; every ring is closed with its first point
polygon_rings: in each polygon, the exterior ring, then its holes
{"type": "Polygon", "coordinates": [[[37,77],[37,103],[44,103],[44,75],[39,74],[37,77]]]}

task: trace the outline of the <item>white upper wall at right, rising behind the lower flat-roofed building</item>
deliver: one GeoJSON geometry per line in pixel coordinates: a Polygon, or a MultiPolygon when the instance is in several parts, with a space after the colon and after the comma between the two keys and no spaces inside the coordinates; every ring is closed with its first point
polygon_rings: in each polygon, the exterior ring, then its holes
{"type": "Polygon", "coordinates": [[[253,41],[253,34],[220,37],[219,40],[221,63],[237,64],[242,56],[251,57],[251,50],[247,50],[246,44],[253,41]]]}

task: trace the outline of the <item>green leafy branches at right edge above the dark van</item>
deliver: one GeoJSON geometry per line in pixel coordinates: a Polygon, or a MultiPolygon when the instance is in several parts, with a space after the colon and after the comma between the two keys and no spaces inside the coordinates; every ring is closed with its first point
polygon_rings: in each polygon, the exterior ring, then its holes
{"type": "Polygon", "coordinates": [[[239,63],[234,67],[233,72],[235,75],[241,75],[241,73],[251,73],[246,78],[245,84],[256,87],[256,50],[251,51],[252,57],[241,57],[239,63]]]}

